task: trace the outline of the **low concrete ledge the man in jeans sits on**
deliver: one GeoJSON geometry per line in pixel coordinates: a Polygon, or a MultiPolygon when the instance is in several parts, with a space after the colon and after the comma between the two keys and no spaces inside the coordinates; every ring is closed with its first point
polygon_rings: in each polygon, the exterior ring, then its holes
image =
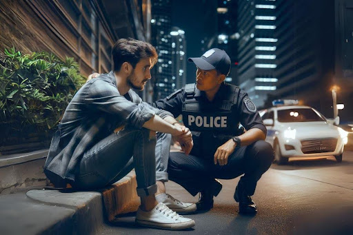
{"type": "Polygon", "coordinates": [[[101,192],[30,190],[0,196],[1,234],[95,234],[105,221],[139,206],[130,172],[101,192]]]}

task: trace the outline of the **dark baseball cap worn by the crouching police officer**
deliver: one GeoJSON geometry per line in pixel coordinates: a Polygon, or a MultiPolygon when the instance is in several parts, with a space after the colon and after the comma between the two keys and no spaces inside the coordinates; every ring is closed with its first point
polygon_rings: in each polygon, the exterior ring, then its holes
{"type": "Polygon", "coordinates": [[[230,72],[230,58],[224,50],[212,48],[201,57],[189,58],[201,70],[217,70],[227,76],[230,72]]]}

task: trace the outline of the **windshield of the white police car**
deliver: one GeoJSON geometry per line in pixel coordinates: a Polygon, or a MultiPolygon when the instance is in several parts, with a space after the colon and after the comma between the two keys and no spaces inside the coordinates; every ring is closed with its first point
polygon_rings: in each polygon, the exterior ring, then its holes
{"type": "Polygon", "coordinates": [[[277,110],[278,120],[281,123],[297,123],[306,121],[325,121],[311,108],[277,110]]]}

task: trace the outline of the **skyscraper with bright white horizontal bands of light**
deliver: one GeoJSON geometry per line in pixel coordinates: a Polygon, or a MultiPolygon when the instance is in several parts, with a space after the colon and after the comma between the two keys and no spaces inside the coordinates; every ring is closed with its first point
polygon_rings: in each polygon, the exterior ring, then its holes
{"type": "Polygon", "coordinates": [[[239,1],[238,75],[239,86],[248,92],[256,106],[276,90],[275,0],[239,1]]]}

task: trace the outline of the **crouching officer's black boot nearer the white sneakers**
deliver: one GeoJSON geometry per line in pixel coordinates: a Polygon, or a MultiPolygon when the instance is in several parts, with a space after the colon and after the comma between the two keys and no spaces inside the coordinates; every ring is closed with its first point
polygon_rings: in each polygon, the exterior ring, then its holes
{"type": "Polygon", "coordinates": [[[214,179],[211,187],[200,192],[201,198],[196,203],[198,211],[208,211],[213,207],[213,196],[217,196],[221,192],[222,184],[221,182],[214,179]]]}

